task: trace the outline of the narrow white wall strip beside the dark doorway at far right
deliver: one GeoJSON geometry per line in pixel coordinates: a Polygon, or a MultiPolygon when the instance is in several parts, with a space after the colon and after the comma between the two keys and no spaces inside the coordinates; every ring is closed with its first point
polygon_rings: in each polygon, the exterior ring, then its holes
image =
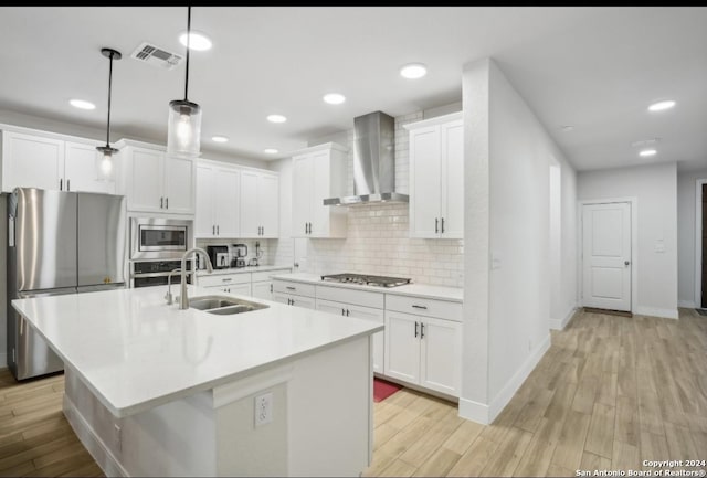
{"type": "Polygon", "coordinates": [[[698,179],[707,169],[677,176],[677,299],[680,307],[698,307],[695,296],[695,205],[698,179]]]}

